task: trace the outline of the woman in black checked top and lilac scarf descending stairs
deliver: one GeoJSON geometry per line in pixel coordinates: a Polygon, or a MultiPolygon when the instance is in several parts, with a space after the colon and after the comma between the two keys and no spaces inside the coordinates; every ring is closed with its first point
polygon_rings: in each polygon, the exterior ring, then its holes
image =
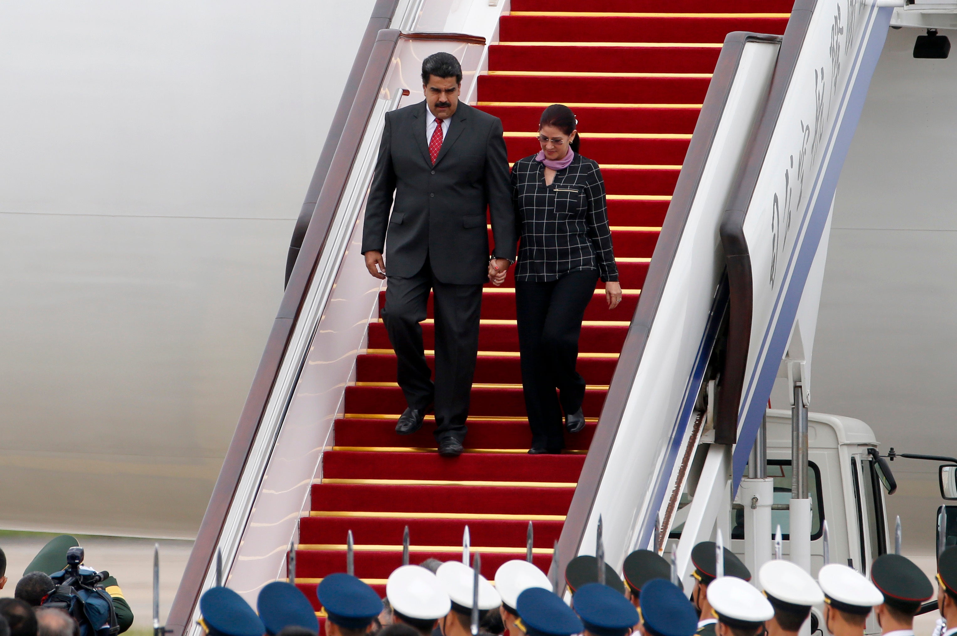
{"type": "MultiPolygon", "coordinates": [[[[578,154],[577,124],[568,106],[548,106],[539,121],[541,152],[512,167],[521,239],[515,296],[531,454],[565,447],[563,411],[568,432],[585,428],[585,380],[575,362],[599,277],[609,309],[621,302],[605,182],[598,164],[578,154]]],[[[489,278],[501,285],[505,273],[490,264],[489,278]]]]}

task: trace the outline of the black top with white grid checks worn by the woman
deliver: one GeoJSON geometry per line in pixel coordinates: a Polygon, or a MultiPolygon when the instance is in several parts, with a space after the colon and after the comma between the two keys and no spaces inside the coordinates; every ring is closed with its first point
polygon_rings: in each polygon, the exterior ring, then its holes
{"type": "Polygon", "coordinates": [[[579,270],[618,280],[597,163],[576,154],[545,186],[545,165],[531,155],[512,166],[511,184],[522,239],[516,280],[547,282],[579,270]]]}

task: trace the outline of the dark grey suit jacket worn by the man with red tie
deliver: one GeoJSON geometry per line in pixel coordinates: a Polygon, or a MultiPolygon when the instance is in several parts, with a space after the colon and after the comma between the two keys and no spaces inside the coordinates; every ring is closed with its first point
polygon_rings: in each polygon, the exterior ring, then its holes
{"type": "Polygon", "coordinates": [[[443,283],[487,282],[486,208],[495,255],[514,260],[517,242],[501,120],[459,101],[433,165],[425,116],[425,101],[386,113],[362,252],[386,248],[389,276],[418,274],[428,256],[443,283]]]}

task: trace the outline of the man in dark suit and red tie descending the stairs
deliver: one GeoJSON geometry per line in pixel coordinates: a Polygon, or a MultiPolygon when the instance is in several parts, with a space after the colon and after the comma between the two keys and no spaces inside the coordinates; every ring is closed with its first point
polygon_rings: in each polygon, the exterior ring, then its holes
{"type": "Polygon", "coordinates": [[[460,102],[461,81],[454,55],[430,55],[422,62],[425,101],[386,114],[362,247],[369,274],[385,278],[388,243],[382,316],[409,406],[395,431],[415,432],[434,405],[438,452],[448,457],[462,452],[465,439],[482,284],[490,265],[502,272],[515,261],[517,240],[501,121],[460,102]],[[486,208],[495,238],[491,264],[486,208]],[[434,384],[419,324],[430,290],[434,384]]]}

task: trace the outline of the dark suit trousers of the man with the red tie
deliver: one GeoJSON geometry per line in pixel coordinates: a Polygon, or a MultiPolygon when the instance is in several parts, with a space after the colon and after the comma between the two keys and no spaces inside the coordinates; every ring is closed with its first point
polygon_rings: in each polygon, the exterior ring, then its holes
{"type": "Polygon", "coordinates": [[[435,439],[465,439],[472,376],[479,351],[481,285],[443,283],[434,277],[429,259],[418,274],[389,276],[386,322],[398,358],[398,381],[412,408],[434,402],[435,439]],[[429,291],[434,297],[435,383],[423,355],[422,325],[429,291]]]}

